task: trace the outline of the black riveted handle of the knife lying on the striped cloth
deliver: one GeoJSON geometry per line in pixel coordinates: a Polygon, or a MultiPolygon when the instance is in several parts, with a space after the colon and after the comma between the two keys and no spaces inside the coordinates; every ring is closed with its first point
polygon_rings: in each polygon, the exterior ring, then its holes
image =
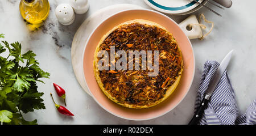
{"type": "Polygon", "coordinates": [[[204,113],[204,109],[207,107],[209,100],[207,99],[203,99],[203,101],[201,102],[199,108],[196,110],[195,115],[193,116],[193,118],[191,119],[191,121],[189,122],[188,125],[197,125],[199,124],[199,120],[201,118],[201,116],[204,113]]]}

